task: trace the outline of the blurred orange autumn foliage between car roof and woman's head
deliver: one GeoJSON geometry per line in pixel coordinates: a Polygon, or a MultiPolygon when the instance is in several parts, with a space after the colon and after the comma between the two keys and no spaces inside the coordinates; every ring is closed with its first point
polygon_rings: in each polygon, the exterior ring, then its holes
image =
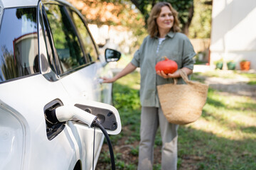
{"type": "MultiPolygon", "coordinates": [[[[134,44],[130,47],[136,49],[146,36],[144,16],[129,0],[68,0],[85,16],[87,23],[102,25],[122,26],[131,30],[134,44]]],[[[125,43],[125,42],[124,42],[125,43]]]]}

